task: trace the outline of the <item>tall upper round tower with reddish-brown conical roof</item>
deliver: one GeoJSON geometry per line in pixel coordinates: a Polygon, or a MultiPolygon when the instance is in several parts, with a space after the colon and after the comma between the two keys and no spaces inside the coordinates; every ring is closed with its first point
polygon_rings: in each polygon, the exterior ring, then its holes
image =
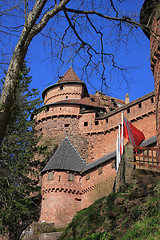
{"type": "Polygon", "coordinates": [[[74,146],[87,159],[89,140],[86,131],[104,127],[95,122],[97,113],[105,112],[98,96],[89,95],[85,83],[69,68],[57,83],[43,91],[42,97],[44,106],[37,110],[35,120],[37,130],[43,134],[43,146],[53,152],[67,132],[74,146]]]}

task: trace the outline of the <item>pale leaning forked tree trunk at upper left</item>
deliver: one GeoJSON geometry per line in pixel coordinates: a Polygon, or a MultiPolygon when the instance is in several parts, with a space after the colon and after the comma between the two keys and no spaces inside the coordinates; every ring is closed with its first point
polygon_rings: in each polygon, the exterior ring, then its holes
{"type": "Polygon", "coordinates": [[[10,110],[14,101],[14,94],[17,86],[19,70],[24,62],[28,47],[33,39],[48,23],[49,19],[62,11],[70,0],[62,0],[58,5],[53,6],[45,14],[42,14],[39,23],[36,24],[47,0],[36,0],[33,9],[30,11],[23,27],[19,41],[15,47],[8,71],[5,77],[2,95],[0,97],[0,143],[4,137],[10,110]]]}

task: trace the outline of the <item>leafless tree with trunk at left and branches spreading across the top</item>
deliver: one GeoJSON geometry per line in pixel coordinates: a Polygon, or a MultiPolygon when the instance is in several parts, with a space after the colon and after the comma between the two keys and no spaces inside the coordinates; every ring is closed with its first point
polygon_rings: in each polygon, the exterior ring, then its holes
{"type": "Polygon", "coordinates": [[[0,33],[5,37],[3,42],[0,40],[3,48],[0,49],[0,63],[6,63],[8,70],[0,97],[0,139],[4,137],[14,101],[19,69],[32,39],[37,34],[50,39],[56,49],[54,56],[58,57],[62,64],[66,49],[71,47],[72,58],[78,55],[84,60],[84,71],[88,66],[101,71],[102,85],[106,85],[106,64],[110,64],[111,71],[117,69],[123,72],[123,68],[117,65],[108,43],[127,44],[132,30],[140,27],[136,16],[134,20],[131,12],[124,14],[124,11],[120,10],[124,2],[126,0],[3,2],[2,10],[0,8],[0,33]],[[14,51],[7,52],[11,42],[15,46],[14,51]]]}

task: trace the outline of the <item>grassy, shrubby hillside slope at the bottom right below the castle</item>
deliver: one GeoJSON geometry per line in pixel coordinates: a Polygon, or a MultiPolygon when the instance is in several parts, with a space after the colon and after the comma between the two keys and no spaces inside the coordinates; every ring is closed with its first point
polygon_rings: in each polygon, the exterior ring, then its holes
{"type": "Polygon", "coordinates": [[[96,201],[75,215],[62,239],[160,239],[160,182],[96,201]]]}

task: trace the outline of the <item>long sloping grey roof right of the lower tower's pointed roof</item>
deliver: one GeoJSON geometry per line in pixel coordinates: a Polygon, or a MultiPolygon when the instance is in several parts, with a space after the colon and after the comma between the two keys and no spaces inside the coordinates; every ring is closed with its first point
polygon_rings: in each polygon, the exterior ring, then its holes
{"type": "Polygon", "coordinates": [[[116,156],[116,151],[111,152],[111,153],[103,156],[102,158],[99,158],[96,161],[87,164],[86,167],[82,170],[82,173],[84,173],[84,172],[86,172],[86,171],[88,171],[88,170],[90,170],[90,169],[92,169],[94,167],[97,167],[98,165],[101,165],[101,164],[103,164],[105,162],[110,161],[115,156],[116,156]]]}

